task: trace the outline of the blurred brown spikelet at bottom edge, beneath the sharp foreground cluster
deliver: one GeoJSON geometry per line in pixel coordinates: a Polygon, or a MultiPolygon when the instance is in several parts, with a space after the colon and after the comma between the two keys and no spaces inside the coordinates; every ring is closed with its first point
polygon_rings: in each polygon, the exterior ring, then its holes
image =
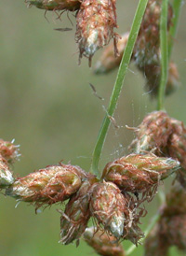
{"type": "Polygon", "coordinates": [[[113,235],[97,230],[95,227],[86,228],[84,233],[86,243],[102,256],[125,256],[121,244],[113,235]]]}

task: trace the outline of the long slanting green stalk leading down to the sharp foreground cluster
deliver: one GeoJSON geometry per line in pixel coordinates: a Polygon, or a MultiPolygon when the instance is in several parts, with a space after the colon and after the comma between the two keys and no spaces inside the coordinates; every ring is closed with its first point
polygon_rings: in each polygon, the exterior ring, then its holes
{"type": "Polygon", "coordinates": [[[115,80],[115,84],[113,87],[113,92],[112,92],[112,95],[110,98],[109,107],[108,107],[107,113],[102,121],[102,125],[100,127],[100,133],[98,135],[96,146],[93,151],[91,172],[97,176],[101,175],[99,173],[99,162],[100,162],[101,150],[103,148],[104,141],[105,141],[105,138],[106,138],[106,135],[107,135],[110,123],[111,123],[111,117],[113,117],[113,113],[116,108],[116,104],[117,104],[120,92],[122,90],[124,78],[126,77],[126,70],[127,70],[128,64],[131,59],[132,51],[133,51],[137,36],[139,34],[140,23],[142,21],[143,14],[145,12],[147,3],[148,3],[148,0],[140,0],[139,1],[139,5],[137,7],[135,17],[134,17],[134,20],[132,23],[132,27],[130,30],[130,34],[128,37],[128,41],[126,44],[126,50],[123,54],[123,58],[122,58],[122,61],[121,61],[121,64],[119,66],[119,70],[117,73],[117,78],[115,80]]]}

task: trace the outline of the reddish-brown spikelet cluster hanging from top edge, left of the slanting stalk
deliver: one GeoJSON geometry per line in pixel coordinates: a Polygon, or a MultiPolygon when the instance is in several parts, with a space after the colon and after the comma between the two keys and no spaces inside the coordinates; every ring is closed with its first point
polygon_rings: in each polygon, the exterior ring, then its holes
{"type": "MultiPolygon", "coordinates": [[[[114,41],[114,54],[117,55],[117,35],[113,29],[117,27],[116,0],[26,0],[29,7],[53,10],[76,11],[75,39],[79,46],[79,63],[86,56],[91,65],[94,53],[114,41]]],[[[59,16],[60,18],[60,16],[59,16]]]]}

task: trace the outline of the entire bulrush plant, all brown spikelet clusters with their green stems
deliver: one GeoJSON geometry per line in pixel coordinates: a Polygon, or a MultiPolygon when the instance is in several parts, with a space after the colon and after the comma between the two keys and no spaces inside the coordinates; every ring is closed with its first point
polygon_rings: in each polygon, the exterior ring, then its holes
{"type": "Polygon", "coordinates": [[[119,24],[115,0],[27,0],[26,3],[29,7],[54,11],[57,19],[63,19],[64,11],[73,12],[79,64],[86,57],[91,66],[95,52],[104,48],[94,67],[95,75],[116,67],[118,73],[89,170],[60,162],[17,177],[12,164],[20,157],[20,148],[13,141],[1,139],[1,191],[18,202],[33,205],[35,210],[63,203],[64,210],[58,210],[62,245],[79,245],[84,239],[99,255],[107,256],[129,255],[142,245],[144,255],[166,256],[171,246],[186,251],[186,128],[165,110],[166,95],[179,84],[171,51],[181,1],[140,0],[130,32],[123,36],[116,33],[119,24]],[[133,129],[135,139],[128,147],[129,154],[105,163],[100,169],[100,155],[130,62],[144,74],[146,90],[157,100],[157,109],[133,129]],[[175,184],[144,232],[140,227],[147,214],[144,203],[151,204],[159,185],[170,177],[175,184]],[[133,244],[127,250],[125,240],[133,244]]]}

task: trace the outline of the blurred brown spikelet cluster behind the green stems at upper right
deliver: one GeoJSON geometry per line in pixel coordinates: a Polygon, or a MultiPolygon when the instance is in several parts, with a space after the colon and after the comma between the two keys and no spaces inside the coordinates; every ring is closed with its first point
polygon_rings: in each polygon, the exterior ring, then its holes
{"type": "MultiPolygon", "coordinates": [[[[146,79],[146,90],[151,96],[156,96],[161,78],[161,52],[160,52],[160,16],[162,0],[150,0],[148,2],[143,20],[140,25],[140,32],[133,50],[131,61],[139,68],[146,79]]],[[[168,6],[167,31],[171,27],[173,17],[172,7],[168,6]]],[[[113,45],[103,50],[100,60],[95,65],[95,74],[103,74],[112,71],[119,66],[124,50],[128,33],[118,39],[119,56],[114,57],[113,45]]],[[[169,38],[172,40],[173,38],[169,38]]],[[[174,92],[179,86],[179,72],[177,65],[173,62],[168,66],[168,78],[166,82],[166,95],[174,92]]]]}

